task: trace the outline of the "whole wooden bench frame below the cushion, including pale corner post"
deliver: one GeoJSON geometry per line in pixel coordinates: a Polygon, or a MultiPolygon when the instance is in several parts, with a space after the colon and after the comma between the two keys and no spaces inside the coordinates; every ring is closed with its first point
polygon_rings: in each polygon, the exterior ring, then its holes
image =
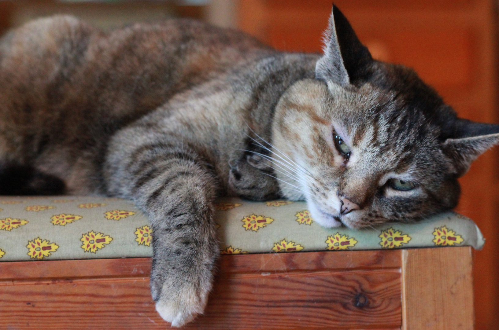
{"type": "MultiPolygon", "coordinates": [[[[169,329],[150,258],[0,263],[0,329],[169,329]]],[[[226,255],[186,329],[473,329],[470,247],[226,255]]]]}

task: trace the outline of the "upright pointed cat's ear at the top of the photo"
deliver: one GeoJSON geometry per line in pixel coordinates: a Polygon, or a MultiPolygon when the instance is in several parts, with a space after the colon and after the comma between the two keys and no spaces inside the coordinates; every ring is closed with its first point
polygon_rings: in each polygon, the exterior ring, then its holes
{"type": "Polygon", "coordinates": [[[324,56],[315,65],[315,78],[340,86],[366,79],[373,59],[343,13],[333,4],[324,32],[324,56]]]}

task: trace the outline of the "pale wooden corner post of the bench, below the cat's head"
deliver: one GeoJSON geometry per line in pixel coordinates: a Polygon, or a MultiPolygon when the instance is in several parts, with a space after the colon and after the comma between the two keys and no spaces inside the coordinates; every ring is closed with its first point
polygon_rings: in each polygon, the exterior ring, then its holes
{"type": "Polygon", "coordinates": [[[403,250],[402,260],[403,330],[474,329],[471,247],[403,250]]]}

